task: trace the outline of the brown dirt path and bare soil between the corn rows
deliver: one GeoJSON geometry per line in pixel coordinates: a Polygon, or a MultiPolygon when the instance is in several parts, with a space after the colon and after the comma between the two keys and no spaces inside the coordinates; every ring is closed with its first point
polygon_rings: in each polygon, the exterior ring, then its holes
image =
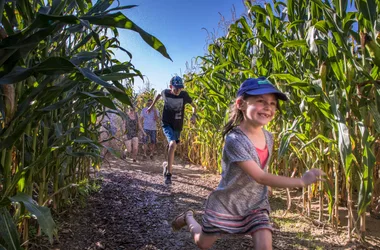
{"type": "MultiPolygon", "coordinates": [[[[163,155],[137,163],[110,157],[97,173],[100,189],[87,197],[86,205],[78,203],[55,215],[59,238],[52,245],[38,239],[30,249],[197,249],[185,228],[172,232],[170,223],[187,208],[201,221],[203,204],[220,175],[180,162],[174,165],[173,184],[168,186],[163,183],[163,161],[163,155]]],[[[366,243],[348,242],[343,209],[342,225],[336,230],[301,215],[297,202],[295,198],[284,215],[284,191],[275,190],[270,198],[274,249],[380,249],[380,220],[367,216],[366,243]]],[[[253,249],[253,244],[248,236],[228,238],[218,240],[212,249],[253,249]]]]}

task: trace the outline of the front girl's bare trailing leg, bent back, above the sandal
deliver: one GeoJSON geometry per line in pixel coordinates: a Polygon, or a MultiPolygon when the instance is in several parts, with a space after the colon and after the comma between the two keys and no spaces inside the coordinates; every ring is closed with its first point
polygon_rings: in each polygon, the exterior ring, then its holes
{"type": "Polygon", "coordinates": [[[219,236],[207,235],[203,233],[201,225],[199,225],[199,223],[194,219],[192,213],[186,214],[186,224],[189,228],[189,231],[195,244],[200,249],[209,249],[210,247],[212,247],[215,241],[219,239],[219,236]]]}

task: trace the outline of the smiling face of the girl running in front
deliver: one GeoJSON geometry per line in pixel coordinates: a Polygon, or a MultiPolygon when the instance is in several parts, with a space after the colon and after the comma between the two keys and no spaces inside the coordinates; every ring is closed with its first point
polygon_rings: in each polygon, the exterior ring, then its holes
{"type": "Polygon", "coordinates": [[[249,96],[240,103],[244,119],[255,127],[267,125],[277,110],[277,97],[274,94],[249,96]]]}

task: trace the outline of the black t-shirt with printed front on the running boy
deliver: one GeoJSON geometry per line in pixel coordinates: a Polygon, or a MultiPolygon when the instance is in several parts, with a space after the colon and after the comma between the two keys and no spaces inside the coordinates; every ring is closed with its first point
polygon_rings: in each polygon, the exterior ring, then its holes
{"type": "Polygon", "coordinates": [[[191,104],[192,99],[186,91],[181,91],[173,95],[170,89],[165,89],[161,93],[164,100],[164,110],[162,112],[163,125],[170,125],[174,130],[181,131],[183,127],[183,118],[185,105],[191,104]]]}

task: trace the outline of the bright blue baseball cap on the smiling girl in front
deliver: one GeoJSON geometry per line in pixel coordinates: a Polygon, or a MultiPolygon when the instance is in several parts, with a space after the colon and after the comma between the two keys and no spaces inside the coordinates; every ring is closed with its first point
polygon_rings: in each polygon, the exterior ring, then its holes
{"type": "Polygon", "coordinates": [[[287,101],[288,97],[281,91],[279,91],[270,81],[265,77],[248,78],[245,80],[238,90],[237,96],[247,95],[265,95],[275,94],[278,99],[287,101]]]}

